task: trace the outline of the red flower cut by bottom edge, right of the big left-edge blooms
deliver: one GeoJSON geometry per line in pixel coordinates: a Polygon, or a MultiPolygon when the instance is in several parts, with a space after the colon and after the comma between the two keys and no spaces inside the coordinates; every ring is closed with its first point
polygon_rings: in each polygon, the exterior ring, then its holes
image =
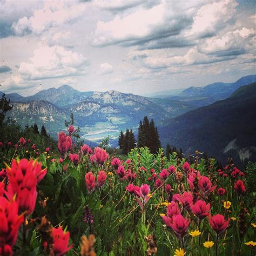
{"type": "Polygon", "coordinates": [[[73,248],[69,246],[69,232],[65,232],[61,227],[52,228],[52,249],[55,255],[64,255],[73,248]]]}

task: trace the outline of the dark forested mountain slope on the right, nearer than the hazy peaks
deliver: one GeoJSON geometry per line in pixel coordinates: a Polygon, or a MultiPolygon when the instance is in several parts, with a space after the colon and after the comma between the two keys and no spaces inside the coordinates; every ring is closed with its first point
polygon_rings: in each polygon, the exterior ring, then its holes
{"type": "Polygon", "coordinates": [[[256,83],[242,86],[231,97],[173,118],[160,127],[163,145],[215,156],[225,163],[256,160],[256,83]]]}

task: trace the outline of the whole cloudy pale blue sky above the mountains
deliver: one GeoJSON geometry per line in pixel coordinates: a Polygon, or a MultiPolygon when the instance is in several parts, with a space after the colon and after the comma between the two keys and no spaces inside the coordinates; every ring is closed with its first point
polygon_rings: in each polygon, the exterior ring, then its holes
{"type": "Polygon", "coordinates": [[[0,0],[0,91],[147,93],[256,73],[255,1],[0,0]]]}

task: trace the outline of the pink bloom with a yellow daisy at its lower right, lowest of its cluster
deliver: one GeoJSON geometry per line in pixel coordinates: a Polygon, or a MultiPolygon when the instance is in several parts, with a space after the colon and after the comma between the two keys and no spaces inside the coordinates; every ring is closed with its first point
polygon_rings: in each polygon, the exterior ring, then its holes
{"type": "MultiPolygon", "coordinates": [[[[163,218],[163,217],[162,217],[163,218]]],[[[187,220],[181,214],[173,215],[172,222],[169,226],[172,228],[177,237],[181,240],[187,232],[190,220],[187,220]]]]}

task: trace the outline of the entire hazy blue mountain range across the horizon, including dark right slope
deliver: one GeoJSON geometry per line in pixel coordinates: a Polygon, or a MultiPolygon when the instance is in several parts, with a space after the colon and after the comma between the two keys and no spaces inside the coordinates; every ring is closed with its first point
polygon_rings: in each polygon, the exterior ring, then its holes
{"type": "Polygon", "coordinates": [[[44,125],[53,137],[65,129],[65,120],[70,119],[72,112],[83,138],[100,142],[110,135],[112,145],[116,146],[121,130],[128,128],[136,132],[139,121],[147,116],[158,126],[163,146],[171,143],[183,147],[187,153],[198,149],[219,157],[226,157],[233,150],[240,152],[234,157],[242,161],[255,145],[242,137],[254,127],[253,122],[248,123],[248,117],[255,110],[244,85],[255,81],[256,75],[251,75],[234,83],[189,87],[176,96],[167,96],[166,92],[166,97],[161,98],[114,90],[80,92],[69,85],[39,91],[28,97],[10,93],[6,98],[13,106],[8,112],[9,117],[23,127],[34,123],[44,125]],[[245,128],[243,123],[247,125],[245,128]],[[237,136],[235,127],[239,127],[241,135],[237,136]],[[242,150],[245,150],[244,154],[242,150]]]}

